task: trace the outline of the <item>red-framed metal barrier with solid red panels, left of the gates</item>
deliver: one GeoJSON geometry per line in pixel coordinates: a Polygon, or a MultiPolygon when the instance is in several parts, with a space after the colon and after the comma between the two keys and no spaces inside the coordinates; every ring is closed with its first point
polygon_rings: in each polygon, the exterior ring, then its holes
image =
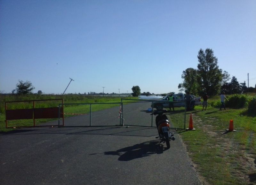
{"type": "MultiPolygon", "coordinates": [[[[28,100],[28,101],[12,101],[5,102],[5,123],[6,128],[8,127],[8,120],[15,119],[33,119],[34,127],[36,127],[36,119],[48,119],[48,118],[59,118],[59,107],[48,107],[48,108],[35,108],[35,102],[38,101],[56,101],[61,100],[62,107],[60,107],[60,118],[64,126],[64,110],[63,110],[63,99],[47,99],[47,100],[28,100]],[[33,102],[33,108],[31,109],[7,109],[7,104],[9,103],[24,103],[33,102]]],[[[58,104],[59,105],[59,104],[58,104]]]]}

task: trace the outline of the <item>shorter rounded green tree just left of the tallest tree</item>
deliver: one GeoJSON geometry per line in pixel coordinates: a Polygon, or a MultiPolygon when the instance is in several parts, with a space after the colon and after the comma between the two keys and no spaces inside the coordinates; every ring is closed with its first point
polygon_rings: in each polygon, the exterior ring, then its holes
{"type": "Polygon", "coordinates": [[[184,80],[178,86],[180,91],[185,91],[185,93],[193,93],[196,95],[198,89],[198,83],[196,81],[197,70],[194,68],[188,68],[182,72],[181,78],[184,80]]]}

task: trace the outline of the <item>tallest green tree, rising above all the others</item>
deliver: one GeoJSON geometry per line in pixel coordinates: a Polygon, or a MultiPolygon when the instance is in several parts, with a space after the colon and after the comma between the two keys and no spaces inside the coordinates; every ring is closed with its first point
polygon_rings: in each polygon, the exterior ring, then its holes
{"type": "Polygon", "coordinates": [[[197,55],[197,83],[198,92],[203,94],[207,92],[208,95],[215,95],[220,92],[222,81],[222,70],[218,66],[218,58],[214,56],[212,49],[200,49],[197,55]]]}

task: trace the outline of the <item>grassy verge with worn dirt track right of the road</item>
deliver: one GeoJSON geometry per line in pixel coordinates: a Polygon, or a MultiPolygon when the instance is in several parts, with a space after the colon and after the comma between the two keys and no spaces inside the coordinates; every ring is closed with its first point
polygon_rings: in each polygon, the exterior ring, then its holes
{"type": "MultiPolygon", "coordinates": [[[[196,170],[209,184],[256,183],[256,118],[244,116],[244,109],[196,106],[186,113],[186,127],[192,113],[195,131],[179,131],[196,170]],[[237,132],[226,132],[230,119],[237,132]]],[[[174,127],[184,127],[184,112],[169,114],[174,127]]]]}

